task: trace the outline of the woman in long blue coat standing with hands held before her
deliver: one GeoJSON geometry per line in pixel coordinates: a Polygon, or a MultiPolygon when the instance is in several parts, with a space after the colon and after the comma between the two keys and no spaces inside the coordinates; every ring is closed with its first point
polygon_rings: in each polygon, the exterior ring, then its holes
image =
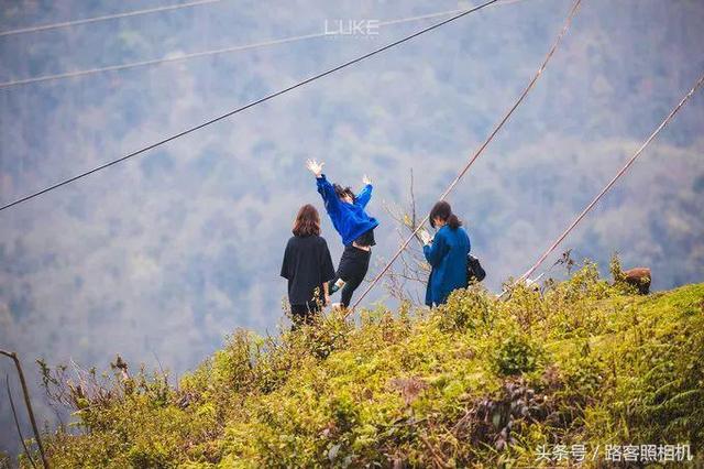
{"type": "Polygon", "coordinates": [[[430,226],[436,228],[435,238],[421,231],[422,251],[432,268],[426,305],[442,305],[450,293],[466,286],[466,262],[470,253],[470,237],[462,228],[462,221],[452,212],[450,204],[442,200],[430,210],[430,226]]]}

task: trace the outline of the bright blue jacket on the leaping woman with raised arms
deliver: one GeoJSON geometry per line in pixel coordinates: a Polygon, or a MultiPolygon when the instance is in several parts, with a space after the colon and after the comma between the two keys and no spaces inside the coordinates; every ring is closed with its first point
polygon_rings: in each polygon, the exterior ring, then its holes
{"type": "Polygon", "coordinates": [[[344,246],[352,244],[352,241],[360,236],[378,226],[378,221],[364,211],[364,207],[366,207],[366,204],[369,204],[372,198],[371,184],[367,184],[362,189],[356,196],[354,204],[348,204],[346,201],[340,200],[340,197],[338,197],[338,194],[334,192],[334,187],[328,182],[324,174],[316,181],[318,192],[322,196],[322,201],[326,204],[326,210],[330,216],[330,220],[332,220],[332,226],[342,237],[342,243],[344,246]]]}

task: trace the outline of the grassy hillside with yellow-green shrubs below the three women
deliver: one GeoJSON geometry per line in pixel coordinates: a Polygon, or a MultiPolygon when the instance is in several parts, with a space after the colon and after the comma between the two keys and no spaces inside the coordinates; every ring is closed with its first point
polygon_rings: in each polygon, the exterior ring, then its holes
{"type": "Polygon", "coordinates": [[[432,312],[240,330],[177,386],[120,360],[45,369],[77,422],[47,447],[56,467],[526,467],[556,445],[596,467],[605,445],[645,444],[704,463],[703,357],[704,284],[638,296],[587,264],[504,302],[476,288],[432,312]]]}

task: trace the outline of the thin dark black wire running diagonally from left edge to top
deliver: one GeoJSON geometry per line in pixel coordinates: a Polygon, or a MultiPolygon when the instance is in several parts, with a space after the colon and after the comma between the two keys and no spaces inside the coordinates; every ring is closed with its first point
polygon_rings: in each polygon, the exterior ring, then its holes
{"type": "MultiPolygon", "coordinates": [[[[364,55],[362,55],[362,56],[359,56],[359,57],[356,57],[356,58],[353,58],[353,59],[351,59],[351,61],[348,61],[348,62],[345,62],[345,63],[343,63],[343,64],[341,64],[341,65],[338,65],[337,67],[330,68],[330,69],[328,69],[328,70],[326,70],[326,72],[320,73],[320,74],[314,75],[314,76],[311,76],[311,77],[309,77],[309,78],[306,78],[306,79],[305,79],[305,80],[302,80],[302,81],[298,81],[298,83],[297,83],[297,84],[295,84],[295,85],[292,85],[292,86],[289,86],[289,87],[287,87],[287,88],[284,88],[284,89],[282,89],[282,90],[279,90],[279,91],[273,92],[273,94],[267,95],[267,96],[265,96],[265,97],[263,97],[263,98],[260,98],[260,99],[257,99],[257,100],[255,100],[255,101],[252,101],[252,102],[250,102],[249,105],[245,105],[245,106],[242,106],[242,107],[240,107],[240,108],[238,108],[238,109],[234,109],[234,110],[232,110],[232,111],[226,112],[224,114],[221,114],[221,116],[219,116],[219,117],[217,117],[217,118],[210,119],[210,120],[208,120],[208,121],[206,121],[206,122],[202,122],[202,123],[200,123],[200,124],[198,124],[198,126],[196,126],[196,127],[191,127],[191,128],[189,128],[189,129],[187,129],[187,130],[184,130],[184,131],[182,131],[182,132],[179,132],[179,133],[176,133],[176,134],[174,134],[174,135],[172,135],[172,137],[168,137],[168,138],[165,138],[165,139],[163,139],[163,140],[160,140],[160,141],[158,141],[158,142],[156,142],[156,143],[152,143],[151,145],[144,146],[144,148],[142,148],[142,149],[140,149],[140,150],[135,151],[135,152],[132,152],[132,153],[128,154],[128,155],[124,155],[124,156],[119,157],[119,159],[117,159],[117,160],[112,160],[111,162],[108,162],[108,163],[101,164],[100,166],[94,167],[92,170],[89,170],[89,171],[86,171],[86,172],[84,172],[84,173],[80,173],[80,174],[78,174],[78,175],[76,175],[76,176],[69,177],[68,179],[64,179],[64,181],[62,181],[62,182],[59,182],[59,183],[57,183],[57,184],[54,184],[54,185],[48,186],[48,187],[46,187],[46,188],[43,188],[43,189],[41,189],[41,190],[38,190],[38,192],[35,192],[34,194],[30,194],[30,195],[24,196],[24,197],[22,197],[22,198],[20,198],[20,199],[16,199],[16,200],[14,200],[14,201],[11,201],[11,203],[9,203],[9,204],[6,204],[6,205],[3,205],[2,207],[0,207],[0,211],[2,211],[2,210],[7,210],[7,209],[8,209],[8,208],[10,208],[10,207],[13,207],[13,206],[15,206],[15,205],[18,205],[18,204],[22,204],[22,203],[24,203],[24,201],[26,201],[26,200],[30,200],[30,199],[34,198],[34,197],[38,197],[38,196],[41,196],[42,194],[46,194],[46,193],[48,193],[50,190],[54,190],[54,189],[56,189],[56,188],[58,188],[58,187],[65,186],[65,185],[67,185],[67,184],[70,184],[70,183],[73,183],[73,182],[75,182],[75,181],[78,181],[78,179],[80,179],[80,178],[82,178],[82,177],[86,177],[86,176],[88,176],[88,175],[90,175],[90,174],[92,174],[92,173],[97,173],[97,172],[99,172],[99,171],[101,171],[101,170],[105,170],[105,168],[107,168],[107,167],[109,167],[109,166],[112,166],[112,165],[114,165],[114,164],[118,164],[118,163],[120,163],[120,162],[123,162],[123,161],[125,161],[125,160],[129,160],[129,159],[131,159],[131,157],[133,157],[133,156],[136,156],[136,155],[139,155],[139,154],[142,154],[142,153],[144,153],[144,152],[146,152],[146,151],[148,151],[148,150],[155,149],[156,146],[160,146],[160,145],[163,145],[163,144],[165,144],[165,143],[167,143],[167,142],[170,142],[172,140],[176,140],[176,139],[178,139],[178,138],[180,138],[180,137],[187,135],[187,134],[189,134],[189,133],[191,133],[191,132],[195,132],[195,131],[197,131],[197,130],[199,130],[199,129],[202,129],[204,127],[210,126],[210,124],[216,123],[216,122],[218,122],[218,121],[221,121],[221,120],[223,120],[223,119],[226,119],[226,118],[228,118],[228,117],[230,117],[230,116],[234,116],[234,114],[237,114],[237,113],[239,113],[239,112],[242,112],[242,111],[244,111],[245,109],[249,109],[249,108],[252,108],[252,107],[254,107],[254,106],[257,106],[257,105],[260,105],[260,103],[262,103],[262,102],[268,101],[270,99],[274,99],[274,98],[276,98],[277,96],[284,95],[285,92],[292,91],[292,90],[294,90],[294,89],[296,89],[296,88],[299,88],[299,87],[301,87],[301,86],[304,86],[304,85],[307,85],[307,84],[309,84],[309,83],[311,83],[311,81],[315,81],[315,80],[317,80],[317,79],[319,79],[319,78],[322,78],[322,77],[324,77],[324,76],[327,76],[327,75],[333,74],[333,73],[336,73],[336,72],[338,72],[338,70],[341,70],[342,68],[345,68],[345,67],[348,67],[348,66],[350,66],[350,65],[353,65],[353,64],[360,63],[360,62],[362,62],[362,61],[364,61],[364,59],[366,59],[366,58],[369,58],[369,57],[372,57],[372,56],[377,55],[377,54],[380,54],[380,53],[382,53],[382,52],[384,52],[384,51],[386,51],[386,50],[388,50],[388,48],[395,47],[395,46],[397,46],[397,45],[399,45],[399,44],[403,44],[403,43],[405,43],[405,42],[407,42],[407,41],[410,41],[410,40],[411,40],[411,39],[414,39],[414,37],[417,37],[417,36],[421,35],[421,34],[425,34],[425,33],[427,33],[427,32],[429,32],[429,31],[436,30],[436,29],[438,29],[438,28],[440,28],[440,26],[442,26],[442,25],[444,25],[444,24],[448,24],[448,23],[450,23],[450,22],[452,22],[452,21],[459,20],[460,18],[463,18],[463,17],[465,17],[465,15],[470,14],[470,13],[473,13],[473,12],[475,12],[475,11],[479,11],[479,10],[481,10],[481,9],[483,9],[483,8],[485,8],[485,7],[488,7],[490,4],[495,3],[495,2],[497,2],[497,1],[498,1],[498,0],[488,0],[488,1],[487,1],[487,2],[485,2],[485,3],[482,3],[482,4],[477,6],[477,7],[474,7],[474,8],[470,9],[470,10],[466,10],[466,11],[464,11],[464,12],[460,13],[460,14],[457,14],[457,15],[454,15],[454,17],[451,17],[451,18],[447,19],[447,20],[443,20],[443,21],[441,21],[441,22],[439,22],[439,23],[431,24],[430,26],[424,28],[424,29],[422,29],[422,30],[420,30],[420,31],[417,31],[417,32],[415,32],[415,33],[413,33],[413,34],[410,34],[410,35],[407,35],[407,36],[405,36],[405,37],[403,37],[403,39],[400,39],[400,40],[398,40],[398,41],[394,41],[393,43],[389,43],[389,44],[387,44],[387,45],[385,45],[385,46],[383,46],[383,47],[376,48],[376,50],[374,50],[374,51],[372,51],[372,52],[369,52],[369,53],[366,53],[366,54],[364,54],[364,55]]],[[[579,1],[579,0],[578,0],[578,1],[579,1]]]]}

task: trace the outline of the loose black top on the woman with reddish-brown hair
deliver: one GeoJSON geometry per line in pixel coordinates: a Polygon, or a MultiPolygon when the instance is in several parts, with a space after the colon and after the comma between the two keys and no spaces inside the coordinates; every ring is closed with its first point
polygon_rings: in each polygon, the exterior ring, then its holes
{"type": "Polygon", "coordinates": [[[326,240],[319,236],[292,237],[286,244],[282,276],[288,279],[288,301],[302,305],[315,301],[314,292],[334,279],[332,258],[326,240]]]}

